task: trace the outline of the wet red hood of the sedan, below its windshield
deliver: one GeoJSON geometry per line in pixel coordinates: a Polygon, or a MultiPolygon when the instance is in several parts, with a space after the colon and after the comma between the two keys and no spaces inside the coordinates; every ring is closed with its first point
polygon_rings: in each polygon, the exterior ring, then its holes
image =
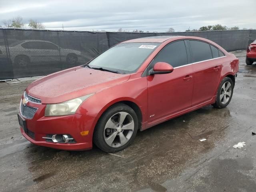
{"type": "Polygon", "coordinates": [[[99,92],[129,78],[130,74],[116,74],[79,66],[36,80],[26,88],[26,92],[42,100],[42,104],[53,104],[99,92]]]}

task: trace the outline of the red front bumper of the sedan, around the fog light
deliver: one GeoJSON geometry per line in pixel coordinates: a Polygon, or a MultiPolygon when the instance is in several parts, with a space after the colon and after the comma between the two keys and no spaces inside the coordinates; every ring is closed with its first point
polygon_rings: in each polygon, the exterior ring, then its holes
{"type": "Polygon", "coordinates": [[[89,150],[92,148],[92,135],[98,118],[81,114],[45,117],[45,104],[28,102],[27,105],[36,107],[38,110],[32,119],[22,116],[26,120],[28,133],[24,132],[22,127],[20,127],[20,131],[33,144],[61,150],[89,150]],[[89,134],[82,136],[80,132],[84,131],[89,131],[89,134]],[[48,134],[69,134],[74,138],[75,142],[49,142],[42,138],[48,134]]]}

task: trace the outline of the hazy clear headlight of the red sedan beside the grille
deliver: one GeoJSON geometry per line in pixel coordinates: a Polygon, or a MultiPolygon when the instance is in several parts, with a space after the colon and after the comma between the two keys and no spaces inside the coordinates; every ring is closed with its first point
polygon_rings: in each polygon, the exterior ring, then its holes
{"type": "Polygon", "coordinates": [[[78,97],[58,104],[47,104],[44,116],[62,116],[75,114],[76,110],[88,97],[93,94],[78,97]]]}

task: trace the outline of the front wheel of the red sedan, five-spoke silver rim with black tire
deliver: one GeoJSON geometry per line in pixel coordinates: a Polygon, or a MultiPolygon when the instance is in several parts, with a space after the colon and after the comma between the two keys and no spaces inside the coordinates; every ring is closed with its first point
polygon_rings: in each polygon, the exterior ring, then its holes
{"type": "Polygon", "coordinates": [[[138,117],[134,110],[128,105],[116,104],[100,117],[94,130],[93,142],[105,152],[118,152],[132,143],[137,130],[138,117]]]}

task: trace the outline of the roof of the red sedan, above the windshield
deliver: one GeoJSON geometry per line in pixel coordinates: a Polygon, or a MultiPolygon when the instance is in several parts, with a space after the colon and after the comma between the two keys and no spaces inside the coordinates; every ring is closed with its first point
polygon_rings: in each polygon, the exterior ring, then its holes
{"type": "Polygon", "coordinates": [[[122,43],[138,43],[138,42],[149,42],[149,43],[162,43],[166,40],[176,38],[176,37],[182,37],[182,36],[150,36],[150,37],[142,37],[137,39],[131,39],[128,41],[124,41],[122,43]]]}

